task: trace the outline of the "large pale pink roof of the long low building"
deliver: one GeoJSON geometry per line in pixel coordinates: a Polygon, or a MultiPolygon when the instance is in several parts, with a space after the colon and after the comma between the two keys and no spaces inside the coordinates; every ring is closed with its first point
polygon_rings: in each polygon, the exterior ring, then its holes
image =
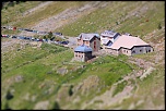
{"type": "Polygon", "coordinates": [[[120,47],[123,47],[131,49],[133,46],[146,46],[146,45],[149,44],[146,44],[139,37],[122,35],[119,36],[119,38],[110,47],[107,48],[119,49],[120,47]]]}

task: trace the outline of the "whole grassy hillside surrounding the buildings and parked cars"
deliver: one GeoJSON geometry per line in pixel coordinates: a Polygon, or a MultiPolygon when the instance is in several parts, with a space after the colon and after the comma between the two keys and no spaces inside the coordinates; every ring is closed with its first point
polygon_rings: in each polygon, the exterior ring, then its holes
{"type": "MultiPolygon", "coordinates": [[[[57,1],[23,14],[40,3],[44,2],[26,1],[3,8],[1,24],[31,28],[67,9],[90,4],[57,1]]],[[[81,63],[71,61],[73,50],[62,46],[43,44],[34,48],[31,42],[1,38],[1,109],[165,109],[165,2],[107,1],[98,5],[55,32],[73,37],[80,33],[100,34],[105,29],[127,32],[152,45],[154,52],[99,55],[92,63],[81,63]],[[150,63],[147,69],[141,67],[139,60],[150,63]],[[154,70],[145,78],[135,77],[150,67],[154,70]]]]}

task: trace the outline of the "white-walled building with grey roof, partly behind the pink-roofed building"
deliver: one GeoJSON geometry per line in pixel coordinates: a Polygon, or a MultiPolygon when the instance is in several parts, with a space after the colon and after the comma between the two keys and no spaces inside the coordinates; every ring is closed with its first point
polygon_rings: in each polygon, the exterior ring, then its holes
{"type": "Polygon", "coordinates": [[[111,46],[119,36],[120,34],[114,30],[105,30],[100,34],[100,45],[111,46]]]}

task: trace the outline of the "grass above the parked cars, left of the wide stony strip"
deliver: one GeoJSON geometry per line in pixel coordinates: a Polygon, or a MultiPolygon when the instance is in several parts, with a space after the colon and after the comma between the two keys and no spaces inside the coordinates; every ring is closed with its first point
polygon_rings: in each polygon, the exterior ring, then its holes
{"type": "Polygon", "coordinates": [[[45,7],[44,9],[39,9],[32,13],[31,15],[22,16],[22,13],[27,11],[28,9],[36,7],[40,1],[27,1],[25,3],[20,3],[14,7],[9,8],[7,11],[2,10],[2,25],[7,25],[11,22],[14,22],[14,26],[17,27],[31,27],[38,22],[50,17],[51,15],[56,15],[68,8],[76,8],[85,2],[68,2],[68,1],[56,1],[45,7]],[[58,5],[58,7],[56,7],[58,5]],[[8,13],[7,13],[8,12],[8,13]],[[46,13],[47,12],[47,13],[46,13]],[[19,13],[19,14],[17,14],[19,13]],[[10,15],[10,16],[9,16],[10,15]],[[14,16],[14,17],[13,17],[14,16]],[[9,17],[7,20],[7,17],[9,17]]]}

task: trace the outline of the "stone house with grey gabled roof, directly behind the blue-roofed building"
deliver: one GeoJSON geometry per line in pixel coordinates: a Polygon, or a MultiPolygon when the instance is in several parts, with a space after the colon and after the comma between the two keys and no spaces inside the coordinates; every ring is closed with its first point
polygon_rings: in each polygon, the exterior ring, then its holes
{"type": "Polygon", "coordinates": [[[100,49],[100,38],[98,34],[85,34],[82,33],[78,37],[78,46],[85,45],[91,47],[93,51],[98,51],[100,49]]]}

